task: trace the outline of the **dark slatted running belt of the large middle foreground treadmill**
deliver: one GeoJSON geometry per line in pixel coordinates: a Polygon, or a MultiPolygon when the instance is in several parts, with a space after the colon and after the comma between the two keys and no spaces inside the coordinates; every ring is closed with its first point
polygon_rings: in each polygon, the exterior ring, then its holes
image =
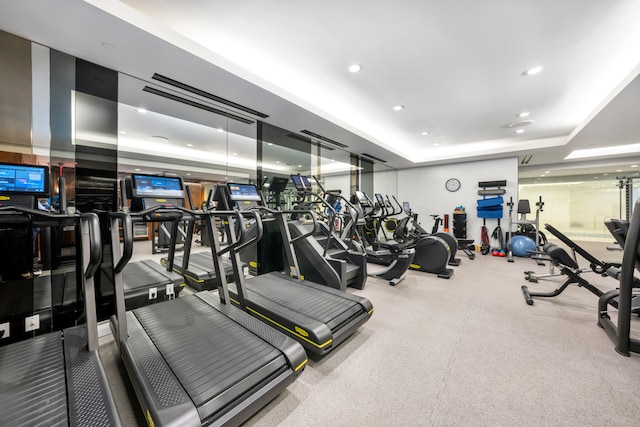
{"type": "Polygon", "coordinates": [[[133,312],[201,419],[287,366],[280,351],[196,295],[133,312]]]}

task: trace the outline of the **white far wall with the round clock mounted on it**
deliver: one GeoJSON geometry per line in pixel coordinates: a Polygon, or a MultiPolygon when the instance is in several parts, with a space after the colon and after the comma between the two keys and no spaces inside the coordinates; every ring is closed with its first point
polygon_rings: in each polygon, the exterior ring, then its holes
{"type": "MultiPolygon", "coordinates": [[[[433,221],[429,215],[449,214],[449,227],[453,231],[453,211],[456,206],[464,206],[467,213],[467,238],[480,242],[482,219],[476,212],[479,181],[506,180],[507,190],[502,197],[505,199],[504,215],[500,225],[503,232],[508,228],[508,212],[506,203],[509,197],[518,199],[518,158],[511,157],[497,160],[484,160],[469,163],[456,163],[440,166],[404,169],[398,171],[398,201],[408,201],[411,209],[418,213],[422,226],[431,230],[433,221]],[[445,182],[449,178],[460,180],[460,189],[449,192],[445,182]]],[[[497,219],[487,219],[489,233],[498,225],[497,219]]],[[[492,242],[493,243],[493,242],[492,242]]]]}

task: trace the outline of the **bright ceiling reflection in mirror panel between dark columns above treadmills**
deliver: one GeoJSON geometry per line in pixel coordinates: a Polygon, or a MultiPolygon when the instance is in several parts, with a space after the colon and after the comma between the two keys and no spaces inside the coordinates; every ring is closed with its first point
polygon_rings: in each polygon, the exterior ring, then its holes
{"type": "MultiPolygon", "coordinates": [[[[120,75],[121,179],[132,174],[179,177],[185,184],[185,200],[180,203],[202,209],[215,184],[250,182],[255,180],[255,171],[254,119],[174,87],[120,75]]],[[[142,206],[129,192],[126,194],[128,208],[142,206]]],[[[137,224],[134,235],[135,252],[142,257],[168,249],[169,234],[162,226],[137,224]]],[[[179,233],[179,242],[183,237],[184,233],[179,233]]],[[[195,240],[201,241],[198,237],[195,240]]]]}

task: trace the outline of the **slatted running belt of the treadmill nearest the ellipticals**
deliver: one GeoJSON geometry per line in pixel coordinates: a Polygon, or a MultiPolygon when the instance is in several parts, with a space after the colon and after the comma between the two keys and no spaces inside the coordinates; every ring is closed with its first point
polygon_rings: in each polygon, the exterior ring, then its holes
{"type": "MultiPolygon", "coordinates": [[[[247,280],[247,289],[325,323],[331,330],[335,330],[342,322],[350,320],[363,310],[357,301],[279,276],[277,273],[264,274],[259,276],[257,282],[252,282],[253,279],[247,280]]],[[[235,285],[230,285],[231,289],[235,291],[235,285]]]]}

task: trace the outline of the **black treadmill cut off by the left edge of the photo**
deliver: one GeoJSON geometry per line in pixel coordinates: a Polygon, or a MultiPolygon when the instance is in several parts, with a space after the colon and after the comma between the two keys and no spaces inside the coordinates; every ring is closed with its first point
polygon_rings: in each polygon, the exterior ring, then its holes
{"type": "MultiPolygon", "coordinates": [[[[100,265],[101,242],[97,215],[58,215],[2,206],[0,223],[27,228],[75,227],[80,252],[77,268],[81,269],[78,279],[84,288],[86,314],[86,324],[0,347],[0,423],[121,425],[98,354],[94,274],[100,265]]],[[[25,324],[33,326],[33,318],[23,319],[23,328],[25,324]]],[[[0,336],[6,337],[7,332],[0,331],[0,336]]]]}

